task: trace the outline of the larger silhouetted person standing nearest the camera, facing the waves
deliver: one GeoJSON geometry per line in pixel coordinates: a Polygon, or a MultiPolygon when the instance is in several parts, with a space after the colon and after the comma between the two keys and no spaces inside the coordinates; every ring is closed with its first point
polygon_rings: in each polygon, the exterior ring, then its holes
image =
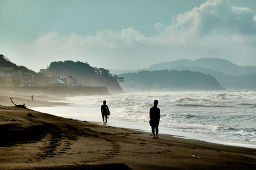
{"type": "Polygon", "coordinates": [[[150,108],[149,111],[149,123],[152,129],[153,138],[158,138],[158,125],[160,121],[160,109],[157,108],[158,101],[154,101],[154,107],[150,108]],[[155,129],[156,129],[156,136],[155,136],[155,129]]]}

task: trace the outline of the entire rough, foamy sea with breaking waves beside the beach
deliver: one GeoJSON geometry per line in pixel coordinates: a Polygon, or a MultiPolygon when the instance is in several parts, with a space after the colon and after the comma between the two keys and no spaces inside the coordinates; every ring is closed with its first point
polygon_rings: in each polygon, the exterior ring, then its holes
{"type": "MultiPolygon", "coordinates": [[[[228,139],[256,148],[256,91],[131,92],[109,96],[67,97],[68,106],[33,110],[102,124],[100,106],[107,101],[108,125],[150,131],[149,110],[159,101],[165,134],[212,141],[228,139]],[[200,136],[196,138],[196,136],[200,136]]],[[[223,143],[229,143],[223,142],[223,143]]],[[[218,143],[218,142],[216,142],[218,143]]],[[[219,142],[220,143],[220,142],[219,142]]],[[[232,143],[232,142],[230,142],[232,143]]]]}

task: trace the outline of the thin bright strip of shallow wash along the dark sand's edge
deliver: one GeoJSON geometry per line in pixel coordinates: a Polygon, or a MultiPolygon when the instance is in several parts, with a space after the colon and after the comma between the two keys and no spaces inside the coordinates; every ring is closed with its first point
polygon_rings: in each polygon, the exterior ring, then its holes
{"type": "MultiPolygon", "coordinates": [[[[32,109],[36,111],[41,111],[40,107],[39,107],[39,110],[36,108],[38,107],[33,107],[32,109]]],[[[43,107],[43,108],[46,108],[46,107],[43,107]]],[[[51,107],[49,107],[49,109],[51,109],[51,107]]],[[[45,110],[43,112],[45,112],[45,110]]],[[[56,113],[56,111],[51,111],[51,113],[49,114],[65,117],[65,115],[62,115],[61,113],[56,113]]],[[[65,118],[72,118],[72,119],[81,120],[81,121],[86,120],[88,122],[92,122],[93,124],[97,124],[97,125],[102,124],[102,118],[100,117],[100,115],[99,117],[86,117],[86,118],[76,117],[76,115],[72,115],[72,117],[65,117],[65,118]]],[[[141,131],[141,132],[151,132],[150,126],[147,123],[131,122],[124,118],[110,117],[108,121],[108,125],[111,125],[114,127],[132,129],[132,130],[141,131]]],[[[194,139],[194,140],[205,141],[205,142],[214,143],[214,144],[239,146],[239,147],[245,147],[245,148],[256,148],[256,143],[253,143],[251,141],[242,141],[239,139],[228,139],[221,136],[217,136],[215,134],[204,134],[200,132],[175,131],[175,129],[172,129],[171,127],[161,126],[161,123],[159,125],[159,134],[177,136],[177,138],[183,138],[183,139],[194,139]]]]}

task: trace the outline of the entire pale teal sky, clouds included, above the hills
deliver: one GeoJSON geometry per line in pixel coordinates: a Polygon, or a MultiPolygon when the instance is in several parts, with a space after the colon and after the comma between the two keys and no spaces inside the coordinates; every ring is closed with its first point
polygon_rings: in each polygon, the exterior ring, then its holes
{"type": "Polygon", "coordinates": [[[141,69],[214,57],[256,66],[256,1],[0,0],[0,53],[35,71],[58,60],[141,69]]]}

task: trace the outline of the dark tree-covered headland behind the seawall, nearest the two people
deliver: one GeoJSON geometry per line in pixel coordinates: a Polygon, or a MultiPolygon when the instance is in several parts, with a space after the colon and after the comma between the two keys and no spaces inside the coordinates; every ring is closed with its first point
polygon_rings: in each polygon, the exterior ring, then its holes
{"type": "Polygon", "coordinates": [[[47,69],[41,69],[40,72],[52,76],[72,76],[86,86],[104,86],[110,92],[122,92],[119,85],[123,81],[122,77],[112,76],[107,69],[92,67],[87,62],[51,62],[47,69]]]}

